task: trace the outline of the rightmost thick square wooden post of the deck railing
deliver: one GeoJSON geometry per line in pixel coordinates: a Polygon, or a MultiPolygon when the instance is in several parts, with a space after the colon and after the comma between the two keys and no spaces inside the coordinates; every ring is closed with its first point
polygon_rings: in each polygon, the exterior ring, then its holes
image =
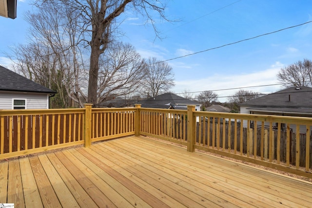
{"type": "Polygon", "coordinates": [[[187,151],[195,151],[195,119],[193,112],[195,111],[195,105],[187,106],[187,151]]]}

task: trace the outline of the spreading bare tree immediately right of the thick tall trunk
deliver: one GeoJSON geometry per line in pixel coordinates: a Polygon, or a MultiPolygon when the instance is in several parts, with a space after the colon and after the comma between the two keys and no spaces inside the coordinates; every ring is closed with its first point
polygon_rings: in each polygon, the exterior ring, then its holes
{"type": "Polygon", "coordinates": [[[117,43],[105,51],[99,67],[98,102],[115,96],[130,97],[146,72],[144,59],[130,44],[117,43]]]}

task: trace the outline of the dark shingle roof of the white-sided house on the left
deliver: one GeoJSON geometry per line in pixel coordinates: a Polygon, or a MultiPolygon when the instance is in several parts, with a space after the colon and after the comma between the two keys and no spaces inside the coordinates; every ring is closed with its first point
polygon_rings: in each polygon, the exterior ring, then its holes
{"type": "Polygon", "coordinates": [[[0,91],[57,93],[3,66],[0,66],[0,91]]]}

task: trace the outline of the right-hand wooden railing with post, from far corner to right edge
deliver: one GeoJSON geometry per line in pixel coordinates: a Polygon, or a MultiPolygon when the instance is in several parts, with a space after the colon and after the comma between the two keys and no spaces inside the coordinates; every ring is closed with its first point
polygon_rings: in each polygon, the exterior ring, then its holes
{"type": "Polygon", "coordinates": [[[141,135],[312,178],[312,118],[197,112],[194,106],[139,112],[141,135]]]}

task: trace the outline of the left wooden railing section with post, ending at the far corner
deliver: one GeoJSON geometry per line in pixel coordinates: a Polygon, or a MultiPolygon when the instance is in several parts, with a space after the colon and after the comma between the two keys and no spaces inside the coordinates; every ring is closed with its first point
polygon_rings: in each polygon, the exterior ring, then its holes
{"type": "Polygon", "coordinates": [[[0,110],[0,159],[135,134],[136,108],[0,110]]]}

